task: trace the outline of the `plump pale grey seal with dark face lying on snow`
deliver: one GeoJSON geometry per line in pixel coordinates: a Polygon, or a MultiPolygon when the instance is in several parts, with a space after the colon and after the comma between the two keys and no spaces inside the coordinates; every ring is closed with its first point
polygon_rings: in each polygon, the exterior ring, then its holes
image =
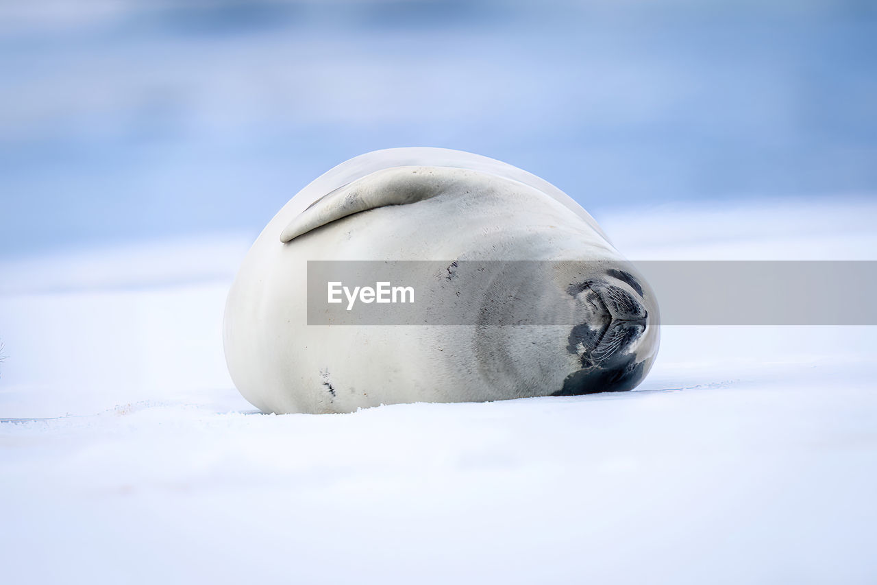
{"type": "Polygon", "coordinates": [[[557,187],[481,155],[391,148],[329,170],[268,223],[229,292],[224,342],[257,408],[343,413],[631,390],[658,325],[651,288],[557,187]],[[446,296],[412,306],[422,325],[309,324],[308,263],[331,260],[440,262],[406,264],[406,284],[441,280],[446,296]],[[471,321],[443,324],[461,307],[471,321]]]}

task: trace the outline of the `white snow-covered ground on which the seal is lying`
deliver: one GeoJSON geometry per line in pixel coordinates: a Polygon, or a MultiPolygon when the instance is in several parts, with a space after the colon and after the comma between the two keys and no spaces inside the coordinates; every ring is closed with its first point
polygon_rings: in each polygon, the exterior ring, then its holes
{"type": "MultiPolygon", "coordinates": [[[[598,216],[631,259],[874,259],[873,199],[598,216]],[[794,206],[794,208],[790,208],[794,206]]],[[[873,582],[873,327],[664,327],[637,391],[261,415],[248,238],[4,261],[5,582],[873,582]]]]}

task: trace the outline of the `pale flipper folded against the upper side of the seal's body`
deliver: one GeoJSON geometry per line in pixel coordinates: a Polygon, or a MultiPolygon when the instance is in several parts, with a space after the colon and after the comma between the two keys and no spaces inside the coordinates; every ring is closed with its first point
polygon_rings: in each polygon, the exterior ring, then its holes
{"type": "Polygon", "coordinates": [[[280,241],[291,242],[299,235],[353,213],[431,199],[449,191],[468,174],[467,170],[444,167],[379,170],[314,201],[283,229],[280,241]]]}

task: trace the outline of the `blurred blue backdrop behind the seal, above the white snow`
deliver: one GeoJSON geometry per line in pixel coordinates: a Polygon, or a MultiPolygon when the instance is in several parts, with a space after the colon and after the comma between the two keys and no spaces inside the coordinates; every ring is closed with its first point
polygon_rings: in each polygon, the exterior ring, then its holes
{"type": "Polygon", "coordinates": [[[875,66],[868,0],[4,0],[0,259],[252,241],[399,146],[510,162],[598,219],[872,198],[875,66]]]}

